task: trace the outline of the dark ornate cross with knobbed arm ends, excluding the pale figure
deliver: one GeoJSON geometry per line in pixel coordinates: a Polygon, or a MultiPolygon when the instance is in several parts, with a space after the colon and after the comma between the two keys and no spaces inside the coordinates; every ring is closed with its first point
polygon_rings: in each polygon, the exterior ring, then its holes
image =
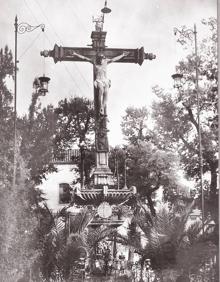
{"type": "MultiPolygon", "coordinates": [[[[100,23],[100,22],[99,22],[100,23]]],[[[156,58],[152,53],[145,53],[144,48],[128,49],[128,48],[107,48],[105,45],[105,38],[107,32],[102,30],[103,24],[98,25],[96,22],[95,31],[91,33],[92,44],[91,47],[62,47],[55,45],[53,50],[44,50],[41,55],[44,57],[52,57],[54,62],[61,61],[75,61],[75,62],[95,62],[100,55],[107,59],[113,59],[123,53],[126,56],[117,60],[117,63],[136,63],[142,65],[144,60],[153,60],[156,58]],[[78,56],[76,56],[78,54],[78,56]]],[[[94,81],[96,80],[96,69],[93,66],[94,81]]],[[[99,89],[94,86],[94,107],[96,113],[96,172],[94,173],[95,185],[107,184],[109,185],[109,175],[111,175],[108,167],[108,138],[107,138],[107,114],[106,112],[100,114],[99,89]],[[106,183],[105,183],[106,182],[106,183]]]]}

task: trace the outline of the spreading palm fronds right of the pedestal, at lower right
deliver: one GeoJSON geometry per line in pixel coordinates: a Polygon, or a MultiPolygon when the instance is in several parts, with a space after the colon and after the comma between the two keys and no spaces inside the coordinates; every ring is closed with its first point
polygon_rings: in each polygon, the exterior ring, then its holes
{"type": "Polygon", "coordinates": [[[192,207],[193,203],[178,209],[163,204],[151,219],[146,212],[146,216],[142,212],[134,217],[147,242],[143,255],[150,257],[157,267],[174,264],[177,252],[187,247],[190,239],[198,234],[199,226],[192,226],[189,230],[186,228],[192,207]]]}

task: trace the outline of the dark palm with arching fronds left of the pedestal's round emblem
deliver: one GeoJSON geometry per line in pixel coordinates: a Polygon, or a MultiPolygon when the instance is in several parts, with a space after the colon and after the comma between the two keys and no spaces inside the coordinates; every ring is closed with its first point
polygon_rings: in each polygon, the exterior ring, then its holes
{"type": "Polygon", "coordinates": [[[95,211],[86,207],[77,214],[71,214],[68,209],[69,206],[53,213],[44,205],[40,214],[38,244],[42,252],[37,271],[48,280],[58,279],[58,276],[71,279],[82,250],[88,256],[91,254],[91,239],[94,236],[88,231],[88,224],[95,211]]]}

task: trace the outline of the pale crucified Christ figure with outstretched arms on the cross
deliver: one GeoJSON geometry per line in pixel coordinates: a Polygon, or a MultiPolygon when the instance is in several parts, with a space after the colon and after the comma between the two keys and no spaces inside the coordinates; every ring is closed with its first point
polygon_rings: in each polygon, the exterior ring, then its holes
{"type": "Polygon", "coordinates": [[[127,56],[129,52],[123,52],[121,55],[116,56],[112,59],[106,58],[103,54],[96,57],[95,60],[82,56],[76,52],[72,55],[80,59],[86,60],[94,65],[95,81],[94,86],[98,89],[98,112],[102,116],[106,116],[106,105],[108,98],[108,91],[111,86],[111,81],[107,78],[107,65],[120,60],[127,56]]]}

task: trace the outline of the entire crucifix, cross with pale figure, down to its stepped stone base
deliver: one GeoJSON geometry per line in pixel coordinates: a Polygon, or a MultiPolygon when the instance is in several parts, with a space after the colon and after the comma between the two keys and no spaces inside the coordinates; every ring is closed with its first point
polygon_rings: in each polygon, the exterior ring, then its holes
{"type": "MultiPolygon", "coordinates": [[[[152,53],[145,53],[144,48],[107,48],[105,45],[106,31],[103,31],[104,16],[111,12],[105,7],[101,10],[102,15],[96,19],[95,30],[91,33],[91,47],[59,47],[53,50],[42,51],[44,57],[52,57],[54,62],[74,61],[89,62],[93,64],[94,76],[94,107],[95,107],[95,148],[96,168],[93,172],[94,186],[92,189],[114,189],[112,172],[108,166],[108,136],[107,136],[107,99],[110,91],[111,81],[107,77],[107,66],[110,63],[136,63],[141,65],[144,60],[156,58],[152,53]]],[[[120,89],[119,89],[120,91],[120,89]]]]}

